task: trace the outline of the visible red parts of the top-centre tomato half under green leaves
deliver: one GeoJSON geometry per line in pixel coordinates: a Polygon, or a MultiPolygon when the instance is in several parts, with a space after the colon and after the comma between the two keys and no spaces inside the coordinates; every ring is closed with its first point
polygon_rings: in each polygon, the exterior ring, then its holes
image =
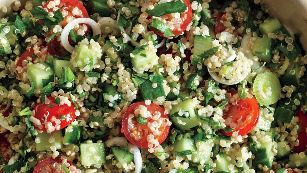
{"type": "MultiPolygon", "coordinates": [[[[189,0],[183,0],[183,2],[185,3],[185,5],[187,6],[187,10],[185,10],[185,12],[183,12],[180,16],[182,22],[181,23],[174,23],[175,28],[172,29],[172,32],[175,36],[181,34],[182,32],[184,32],[188,25],[191,23],[192,20],[192,7],[191,7],[191,3],[189,0]]],[[[166,14],[164,16],[167,16],[168,19],[167,21],[170,21],[173,17],[171,14],[166,14]]],[[[162,16],[161,16],[162,17],[162,16]]],[[[154,29],[153,27],[150,27],[156,34],[165,37],[164,33],[158,32],[156,31],[156,29],[154,29]]]]}

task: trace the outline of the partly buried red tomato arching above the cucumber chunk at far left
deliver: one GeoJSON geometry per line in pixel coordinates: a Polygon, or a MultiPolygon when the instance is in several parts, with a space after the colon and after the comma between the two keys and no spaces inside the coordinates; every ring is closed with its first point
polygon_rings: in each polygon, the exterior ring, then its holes
{"type": "MultiPolygon", "coordinates": [[[[46,48],[45,46],[40,46],[39,47],[39,50],[40,51],[42,51],[42,50],[44,50],[45,51],[45,49],[44,48],[46,48]]],[[[33,48],[30,48],[30,49],[28,49],[28,50],[26,50],[24,53],[22,53],[22,55],[20,56],[20,58],[18,59],[18,60],[15,60],[15,64],[16,64],[16,67],[21,67],[21,68],[24,68],[23,67],[23,65],[22,65],[22,61],[24,61],[24,60],[27,60],[27,61],[34,61],[36,58],[32,58],[32,55],[33,54],[35,54],[34,53],[34,49],[33,48]]],[[[56,56],[60,56],[60,54],[56,51],[56,50],[54,50],[54,49],[52,49],[51,47],[47,47],[47,50],[46,50],[46,52],[45,53],[40,53],[40,54],[37,54],[37,58],[41,58],[42,56],[44,56],[45,58],[47,58],[49,55],[56,55],[56,56]]],[[[18,71],[17,70],[15,70],[15,72],[16,72],[16,74],[17,74],[17,79],[19,79],[19,80],[22,80],[22,73],[23,72],[25,72],[26,70],[25,69],[23,69],[20,73],[18,73],[18,71]]]]}

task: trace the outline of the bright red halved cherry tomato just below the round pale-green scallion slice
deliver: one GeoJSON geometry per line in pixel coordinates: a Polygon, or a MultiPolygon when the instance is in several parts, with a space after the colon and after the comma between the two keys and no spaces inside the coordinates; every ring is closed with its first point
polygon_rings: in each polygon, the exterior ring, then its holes
{"type": "Polygon", "coordinates": [[[251,132],[259,118],[259,106],[255,97],[242,100],[238,97],[238,92],[231,92],[231,97],[227,98],[228,103],[223,111],[223,119],[226,126],[234,129],[226,133],[224,130],[219,130],[223,135],[233,136],[233,132],[238,132],[238,135],[244,136],[251,132]]]}

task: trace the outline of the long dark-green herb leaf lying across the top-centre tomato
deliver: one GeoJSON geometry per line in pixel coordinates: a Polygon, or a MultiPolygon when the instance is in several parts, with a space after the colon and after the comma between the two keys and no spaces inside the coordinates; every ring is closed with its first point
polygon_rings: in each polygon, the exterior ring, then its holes
{"type": "Polygon", "coordinates": [[[151,16],[160,17],[166,14],[182,13],[185,10],[187,10],[185,3],[182,3],[178,0],[161,3],[157,6],[154,6],[152,10],[147,9],[145,12],[151,16]]]}

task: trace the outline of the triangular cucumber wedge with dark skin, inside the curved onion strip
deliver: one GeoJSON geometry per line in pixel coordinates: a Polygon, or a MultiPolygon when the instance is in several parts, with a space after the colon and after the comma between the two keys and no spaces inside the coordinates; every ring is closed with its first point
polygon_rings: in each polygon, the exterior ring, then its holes
{"type": "Polygon", "coordinates": [[[114,154],[114,158],[117,160],[118,163],[123,164],[133,162],[134,154],[129,151],[126,151],[120,147],[110,146],[112,153],[114,154]]]}

